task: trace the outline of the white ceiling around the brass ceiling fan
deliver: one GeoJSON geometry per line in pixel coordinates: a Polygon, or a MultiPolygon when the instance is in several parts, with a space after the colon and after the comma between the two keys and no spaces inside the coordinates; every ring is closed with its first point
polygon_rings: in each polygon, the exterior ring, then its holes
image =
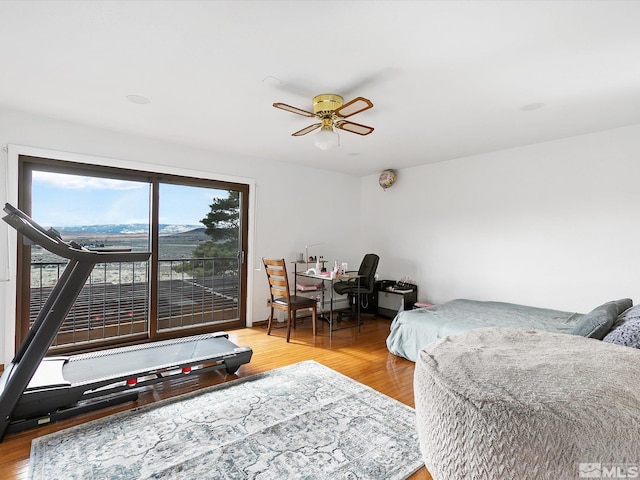
{"type": "Polygon", "coordinates": [[[5,0],[0,18],[0,106],[355,175],[640,123],[638,1],[5,0]],[[375,131],[292,137],[313,119],[272,103],[320,93],[371,99],[350,120],[375,131]]]}

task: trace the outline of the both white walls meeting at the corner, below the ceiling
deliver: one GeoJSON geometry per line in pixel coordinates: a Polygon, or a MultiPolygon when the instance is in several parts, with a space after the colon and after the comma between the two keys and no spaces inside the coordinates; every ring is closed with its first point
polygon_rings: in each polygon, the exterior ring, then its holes
{"type": "MultiPolygon", "coordinates": [[[[314,254],[350,266],[378,253],[380,277],[414,278],[423,301],[463,297],[579,312],[613,298],[640,302],[640,125],[401,170],[386,191],[377,175],[358,179],[2,110],[6,144],[251,180],[250,321],[267,315],[260,258],[294,258],[318,242],[314,254]],[[339,195],[318,202],[309,178],[339,195]],[[360,212],[345,212],[349,200],[360,200],[360,212]]],[[[14,172],[0,175],[0,201],[15,202],[14,172]]],[[[15,245],[7,248],[2,228],[0,268],[9,263],[13,272],[15,245]]],[[[5,276],[1,363],[13,354],[15,316],[15,277],[5,276]]]]}

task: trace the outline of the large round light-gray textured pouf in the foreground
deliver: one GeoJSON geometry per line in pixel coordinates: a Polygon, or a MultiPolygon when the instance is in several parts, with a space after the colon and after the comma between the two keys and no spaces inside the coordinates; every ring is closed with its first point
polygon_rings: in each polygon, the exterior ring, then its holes
{"type": "Polygon", "coordinates": [[[640,351],[561,333],[478,328],[431,343],[414,374],[425,465],[439,480],[578,480],[580,462],[637,465],[638,372],[640,351]]]}

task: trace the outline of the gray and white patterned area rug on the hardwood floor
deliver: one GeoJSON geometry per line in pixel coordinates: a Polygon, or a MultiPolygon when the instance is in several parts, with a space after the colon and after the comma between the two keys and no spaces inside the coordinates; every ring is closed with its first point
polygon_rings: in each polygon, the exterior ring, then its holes
{"type": "Polygon", "coordinates": [[[405,479],[412,408],[314,361],[33,440],[30,480],[405,479]]]}

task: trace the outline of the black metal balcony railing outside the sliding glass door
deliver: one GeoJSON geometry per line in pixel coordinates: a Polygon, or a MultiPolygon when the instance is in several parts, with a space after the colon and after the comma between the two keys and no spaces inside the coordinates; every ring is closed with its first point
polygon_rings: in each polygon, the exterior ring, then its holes
{"type": "MultiPolygon", "coordinates": [[[[31,263],[30,325],[66,262],[31,263]]],[[[158,262],[158,331],[215,325],[239,317],[238,260],[158,262]]],[[[93,269],[60,328],[54,347],[126,338],[149,329],[149,265],[103,263],[93,269]]]]}

